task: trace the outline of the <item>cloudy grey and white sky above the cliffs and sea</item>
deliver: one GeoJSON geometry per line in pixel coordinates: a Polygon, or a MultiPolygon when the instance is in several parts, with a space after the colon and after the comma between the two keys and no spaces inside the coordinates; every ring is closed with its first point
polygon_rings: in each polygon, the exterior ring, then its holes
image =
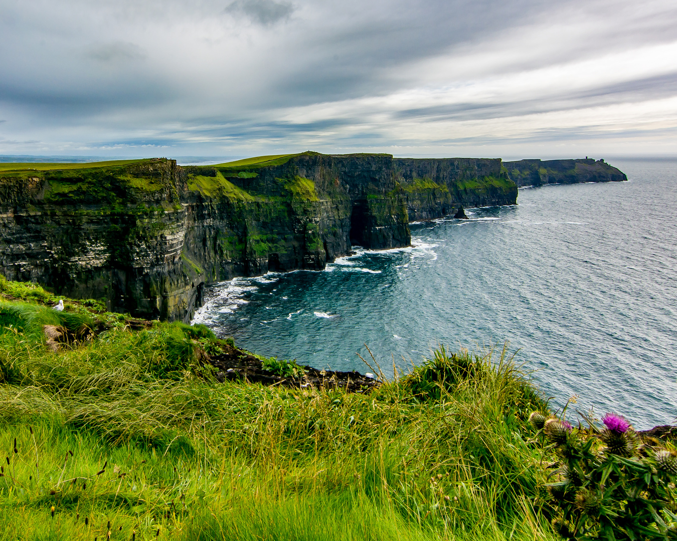
{"type": "Polygon", "coordinates": [[[677,156],[674,0],[0,0],[0,154],[677,156]]]}

